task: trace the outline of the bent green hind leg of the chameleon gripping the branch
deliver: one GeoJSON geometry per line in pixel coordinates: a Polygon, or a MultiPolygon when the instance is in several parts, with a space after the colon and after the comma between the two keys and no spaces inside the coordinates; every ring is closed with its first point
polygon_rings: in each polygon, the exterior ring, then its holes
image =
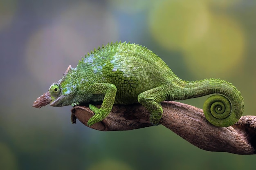
{"type": "Polygon", "coordinates": [[[163,109],[160,104],[160,102],[166,100],[166,95],[163,92],[164,88],[159,86],[138,95],[138,102],[150,112],[149,120],[155,126],[158,125],[163,115],[163,109]]]}

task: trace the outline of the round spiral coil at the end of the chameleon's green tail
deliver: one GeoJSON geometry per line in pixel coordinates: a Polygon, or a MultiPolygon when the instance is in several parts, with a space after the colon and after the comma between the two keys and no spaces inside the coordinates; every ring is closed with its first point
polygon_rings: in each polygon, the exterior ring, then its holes
{"type": "Polygon", "coordinates": [[[235,124],[243,114],[244,102],[241,93],[224,80],[212,79],[214,93],[206,99],[203,105],[206,119],[218,127],[228,127],[235,124]]]}

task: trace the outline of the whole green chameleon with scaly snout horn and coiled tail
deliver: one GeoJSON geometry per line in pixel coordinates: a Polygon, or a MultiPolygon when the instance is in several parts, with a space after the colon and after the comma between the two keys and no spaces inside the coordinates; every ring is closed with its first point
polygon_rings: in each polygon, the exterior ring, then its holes
{"type": "Polygon", "coordinates": [[[120,41],[94,49],[76,68],[69,66],[33,107],[89,104],[94,115],[88,126],[92,126],[105,119],[114,104],[140,103],[150,113],[151,124],[158,125],[162,101],[205,95],[211,96],[204,102],[203,112],[214,126],[231,126],[243,114],[243,97],[231,83],[213,78],[184,81],[146,47],[120,41]],[[100,108],[90,104],[99,101],[100,108]]]}

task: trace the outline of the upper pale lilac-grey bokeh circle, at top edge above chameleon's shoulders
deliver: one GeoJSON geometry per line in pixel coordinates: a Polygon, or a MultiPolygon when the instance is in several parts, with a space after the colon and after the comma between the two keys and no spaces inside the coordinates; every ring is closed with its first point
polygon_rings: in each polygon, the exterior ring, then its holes
{"type": "MultiPolygon", "coordinates": [[[[94,44],[117,41],[119,30],[114,16],[108,9],[95,2],[79,2],[61,12],[56,24],[72,26],[91,48],[94,44]],[[92,46],[90,46],[92,45],[92,46]]],[[[102,45],[102,44],[100,44],[102,45]]]]}

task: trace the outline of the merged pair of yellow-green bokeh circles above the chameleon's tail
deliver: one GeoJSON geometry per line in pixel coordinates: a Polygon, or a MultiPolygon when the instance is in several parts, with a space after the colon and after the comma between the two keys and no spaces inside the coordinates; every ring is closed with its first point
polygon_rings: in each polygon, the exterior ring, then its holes
{"type": "Polygon", "coordinates": [[[210,4],[203,0],[162,1],[152,10],[149,26],[161,46],[183,54],[191,73],[218,76],[231,73],[242,61],[245,38],[231,16],[215,14],[210,4]]]}

